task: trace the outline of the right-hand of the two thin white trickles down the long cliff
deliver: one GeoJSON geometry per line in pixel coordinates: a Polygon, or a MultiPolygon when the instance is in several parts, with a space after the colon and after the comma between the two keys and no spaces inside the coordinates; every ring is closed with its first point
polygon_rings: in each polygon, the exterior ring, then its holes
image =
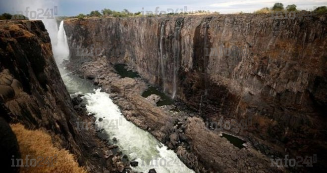
{"type": "Polygon", "coordinates": [[[179,70],[179,54],[180,54],[180,30],[182,28],[182,22],[176,21],[175,23],[175,39],[174,39],[174,71],[173,71],[173,92],[172,98],[175,98],[177,92],[177,76],[179,70]]]}

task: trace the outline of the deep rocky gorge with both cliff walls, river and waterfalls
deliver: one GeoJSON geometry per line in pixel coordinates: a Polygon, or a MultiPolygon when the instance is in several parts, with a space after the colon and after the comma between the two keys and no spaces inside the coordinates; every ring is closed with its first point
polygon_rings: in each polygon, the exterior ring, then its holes
{"type": "Polygon", "coordinates": [[[1,114],[90,173],[320,172],[326,18],[1,20],[1,114]],[[316,161],[274,166],[285,155],[316,161]]]}

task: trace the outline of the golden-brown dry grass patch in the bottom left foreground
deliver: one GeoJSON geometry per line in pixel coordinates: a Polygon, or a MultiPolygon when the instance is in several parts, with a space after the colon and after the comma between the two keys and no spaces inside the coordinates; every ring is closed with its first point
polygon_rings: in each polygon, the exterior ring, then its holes
{"type": "MultiPolygon", "coordinates": [[[[54,147],[51,136],[43,130],[27,130],[20,124],[10,126],[17,136],[23,160],[26,155],[29,155],[29,159],[36,159],[41,163],[38,165],[42,165],[45,160],[42,161],[38,157],[50,158],[57,155],[52,167],[20,167],[20,173],[87,173],[84,168],[78,166],[74,156],[67,150],[54,147]]],[[[25,160],[23,162],[25,165],[25,160]]],[[[28,163],[31,164],[31,162],[28,163]]]]}

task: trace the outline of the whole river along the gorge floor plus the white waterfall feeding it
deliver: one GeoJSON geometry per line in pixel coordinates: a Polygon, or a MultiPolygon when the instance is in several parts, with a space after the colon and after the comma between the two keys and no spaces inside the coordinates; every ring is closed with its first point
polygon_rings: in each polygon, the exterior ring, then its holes
{"type": "MultiPolygon", "coordinates": [[[[61,21],[58,31],[58,36],[63,36],[63,22],[61,21]]],[[[58,47],[67,48],[66,37],[58,39],[58,47]]],[[[65,52],[64,50],[62,52],[65,52]]],[[[69,54],[69,50],[68,50],[69,54]]],[[[109,93],[101,92],[101,89],[95,89],[89,81],[80,79],[72,75],[62,66],[62,60],[69,59],[67,57],[58,57],[62,54],[55,54],[61,77],[68,91],[72,95],[83,94],[87,102],[87,112],[95,114],[97,118],[96,124],[99,124],[99,119],[113,120],[118,122],[115,128],[104,128],[110,138],[117,140],[115,144],[119,149],[126,154],[129,160],[139,162],[137,167],[132,167],[138,172],[148,173],[150,169],[155,169],[158,173],[194,173],[186,167],[177,157],[176,153],[167,149],[160,141],[158,141],[148,131],[141,130],[133,123],[127,121],[121,114],[117,105],[115,105],[109,97],[109,93]]],[[[104,124],[103,124],[104,125],[104,124]]],[[[109,126],[108,126],[109,127],[109,126]]],[[[110,140],[110,139],[109,139],[110,140]]]]}

